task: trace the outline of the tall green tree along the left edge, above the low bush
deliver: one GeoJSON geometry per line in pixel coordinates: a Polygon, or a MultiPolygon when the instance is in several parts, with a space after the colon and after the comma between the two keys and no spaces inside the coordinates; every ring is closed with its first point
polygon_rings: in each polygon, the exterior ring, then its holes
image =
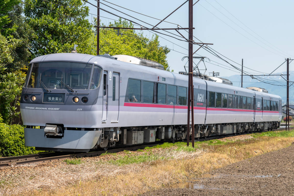
{"type": "Polygon", "coordinates": [[[0,114],[5,123],[12,123],[19,115],[16,107],[24,83],[26,63],[33,31],[21,15],[23,9],[19,1],[5,0],[0,5],[0,114]]]}

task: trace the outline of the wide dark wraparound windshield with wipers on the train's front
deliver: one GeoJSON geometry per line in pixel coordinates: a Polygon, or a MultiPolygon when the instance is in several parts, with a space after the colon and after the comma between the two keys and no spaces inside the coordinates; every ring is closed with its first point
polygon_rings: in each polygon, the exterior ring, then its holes
{"type": "MultiPolygon", "coordinates": [[[[45,89],[89,89],[92,64],[81,62],[39,62],[34,63],[28,88],[45,89]],[[66,87],[68,86],[68,87],[66,87]]],[[[90,89],[98,87],[101,68],[95,65],[90,89]]]]}

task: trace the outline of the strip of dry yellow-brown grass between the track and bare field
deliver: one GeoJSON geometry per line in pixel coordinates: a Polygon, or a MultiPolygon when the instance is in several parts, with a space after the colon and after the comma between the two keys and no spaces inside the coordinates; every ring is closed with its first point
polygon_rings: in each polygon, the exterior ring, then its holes
{"type": "Polygon", "coordinates": [[[164,149],[143,163],[107,161],[39,168],[0,184],[0,195],[138,195],[201,175],[214,168],[285,148],[293,137],[258,137],[221,145],[201,144],[196,151],[164,149]]]}

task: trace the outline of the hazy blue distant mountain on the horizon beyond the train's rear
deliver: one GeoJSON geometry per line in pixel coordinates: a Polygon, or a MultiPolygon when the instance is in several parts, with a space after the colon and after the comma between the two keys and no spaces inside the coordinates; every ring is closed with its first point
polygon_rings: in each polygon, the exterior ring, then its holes
{"type": "MultiPolygon", "coordinates": [[[[273,73],[273,75],[277,74],[283,74],[283,77],[287,79],[287,72],[280,72],[280,73],[273,73]]],[[[294,71],[289,72],[289,81],[294,81],[294,71]]],[[[261,75],[261,74],[260,74],[261,75]]],[[[233,82],[233,86],[241,87],[241,76],[240,75],[232,75],[229,77],[220,76],[225,79],[228,79],[233,82]]],[[[269,93],[271,94],[277,94],[280,97],[282,97],[282,102],[286,103],[287,100],[287,87],[286,86],[276,86],[276,85],[287,85],[287,82],[281,77],[281,76],[258,76],[263,80],[264,82],[260,82],[256,79],[252,79],[250,76],[244,76],[243,75],[243,87],[261,87],[264,89],[267,89],[269,93]],[[265,82],[274,84],[267,84],[265,82]]],[[[292,83],[289,82],[289,85],[292,83]]],[[[294,103],[294,84],[289,88],[289,102],[290,104],[294,103]]]]}

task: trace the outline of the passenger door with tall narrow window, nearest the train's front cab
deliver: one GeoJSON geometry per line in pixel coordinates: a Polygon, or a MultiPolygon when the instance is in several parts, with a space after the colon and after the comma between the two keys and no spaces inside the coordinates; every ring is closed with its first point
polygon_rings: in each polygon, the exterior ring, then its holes
{"type": "Polygon", "coordinates": [[[119,84],[120,84],[120,75],[117,72],[109,72],[109,84],[111,84],[111,91],[108,91],[109,99],[108,105],[110,107],[110,121],[112,123],[118,122],[118,113],[119,113],[119,84]]]}

